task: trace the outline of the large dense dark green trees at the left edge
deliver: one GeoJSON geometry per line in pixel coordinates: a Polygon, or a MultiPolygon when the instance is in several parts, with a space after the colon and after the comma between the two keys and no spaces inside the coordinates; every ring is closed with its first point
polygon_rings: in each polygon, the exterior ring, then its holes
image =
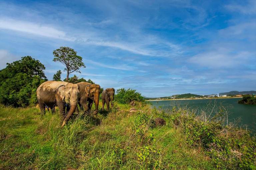
{"type": "Polygon", "coordinates": [[[0,70],[0,103],[15,107],[26,107],[37,103],[36,89],[46,81],[45,67],[31,56],[7,63],[0,70]]]}

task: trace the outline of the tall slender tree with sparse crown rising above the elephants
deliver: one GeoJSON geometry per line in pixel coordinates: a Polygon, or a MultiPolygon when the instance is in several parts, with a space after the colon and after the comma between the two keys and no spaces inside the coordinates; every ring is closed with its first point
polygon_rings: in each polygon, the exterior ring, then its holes
{"type": "Polygon", "coordinates": [[[60,62],[63,65],[66,66],[64,71],[67,71],[67,78],[70,73],[73,73],[74,71],[79,72],[80,68],[85,68],[84,63],[82,62],[82,57],[76,55],[76,51],[70,47],[61,46],[59,49],[56,49],[53,51],[55,62],[60,62]]]}

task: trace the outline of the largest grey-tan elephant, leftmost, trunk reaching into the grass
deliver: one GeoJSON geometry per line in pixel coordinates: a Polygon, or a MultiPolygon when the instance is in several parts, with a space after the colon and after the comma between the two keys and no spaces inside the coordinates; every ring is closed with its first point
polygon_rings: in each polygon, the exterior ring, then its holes
{"type": "Polygon", "coordinates": [[[52,110],[57,105],[62,116],[63,127],[77,108],[80,94],[77,84],[62,81],[46,81],[37,90],[37,99],[41,110],[41,116],[45,114],[45,106],[52,110]],[[67,111],[65,105],[67,104],[67,111]]]}

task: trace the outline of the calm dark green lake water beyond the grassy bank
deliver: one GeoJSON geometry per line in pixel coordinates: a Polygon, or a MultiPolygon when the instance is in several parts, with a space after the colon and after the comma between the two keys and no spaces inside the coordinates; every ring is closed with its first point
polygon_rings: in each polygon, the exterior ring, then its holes
{"type": "MultiPolygon", "coordinates": [[[[163,109],[171,109],[173,106],[189,107],[190,109],[200,110],[207,107],[210,103],[212,106],[214,103],[217,106],[222,106],[226,108],[229,112],[228,120],[232,122],[236,122],[239,126],[247,125],[247,129],[252,130],[254,133],[256,132],[256,105],[246,105],[246,104],[238,104],[238,100],[241,98],[230,98],[230,99],[198,99],[198,100],[175,100],[175,101],[151,101],[153,106],[159,108],[162,106],[163,109]],[[240,119],[240,122],[237,120],[240,119]]],[[[162,108],[161,108],[162,109],[162,108]]]]}

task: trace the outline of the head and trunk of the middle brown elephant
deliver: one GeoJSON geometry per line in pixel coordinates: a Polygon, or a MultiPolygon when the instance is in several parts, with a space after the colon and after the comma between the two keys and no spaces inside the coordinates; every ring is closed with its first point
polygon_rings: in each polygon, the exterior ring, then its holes
{"type": "Polygon", "coordinates": [[[88,95],[88,98],[94,101],[95,112],[93,114],[97,115],[98,109],[99,109],[99,100],[100,100],[100,85],[98,84],[86,85],[85,92],[88,95]]]}

